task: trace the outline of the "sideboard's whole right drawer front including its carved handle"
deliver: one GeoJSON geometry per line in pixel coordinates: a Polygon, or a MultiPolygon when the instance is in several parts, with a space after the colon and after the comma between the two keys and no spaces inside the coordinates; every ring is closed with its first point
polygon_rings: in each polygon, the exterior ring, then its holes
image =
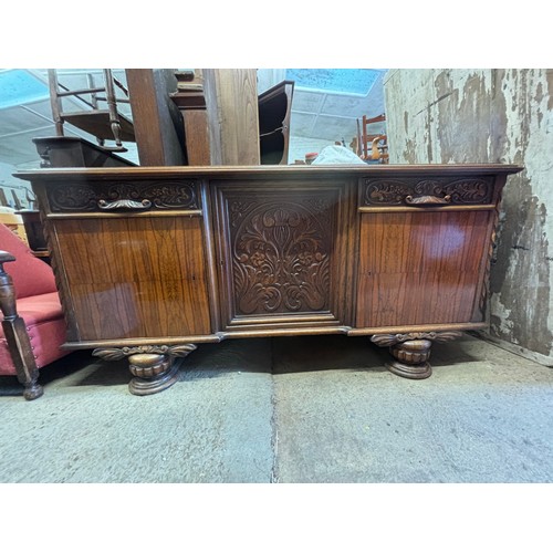
{"type": "Polygon", "coordinates": [[[494,177],[365,177],[359,179],[359,206],[439,207],[491,205],[494,177]]]}

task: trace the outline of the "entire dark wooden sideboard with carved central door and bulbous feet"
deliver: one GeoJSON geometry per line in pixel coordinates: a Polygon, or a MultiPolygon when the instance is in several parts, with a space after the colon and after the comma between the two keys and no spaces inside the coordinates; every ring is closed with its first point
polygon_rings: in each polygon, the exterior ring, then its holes
{"type": "Polygon", "coordinates": [[[430,376],[486,326],[513,165],[132,167],[19,173],[38,196],[67,348],[128,357],[133,394],[226,338],[366,335],[430,376]]]}

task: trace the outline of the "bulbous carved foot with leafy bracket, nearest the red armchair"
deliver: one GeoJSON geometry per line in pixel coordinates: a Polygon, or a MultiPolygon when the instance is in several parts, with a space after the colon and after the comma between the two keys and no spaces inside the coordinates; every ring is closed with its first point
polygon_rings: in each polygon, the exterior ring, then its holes
{"type": "Polygon", "coordinates": [[[175,357],[186,357],[196,349],[194,344],[179,346],[136,346],[94,349],[93,355],[106,361],[128,357],[134,378],[128,383],[131,394],[149,396],[173,386],[178,379],[175,357]]]}

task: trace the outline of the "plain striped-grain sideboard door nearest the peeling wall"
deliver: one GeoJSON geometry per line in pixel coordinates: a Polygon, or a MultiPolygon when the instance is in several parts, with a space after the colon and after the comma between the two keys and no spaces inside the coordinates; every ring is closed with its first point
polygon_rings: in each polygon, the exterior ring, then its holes
{"type": "Polygon", "coordinates": [[[481,322],[491,217],[488,210],[363,213],[357,326],[481,322]]]}

